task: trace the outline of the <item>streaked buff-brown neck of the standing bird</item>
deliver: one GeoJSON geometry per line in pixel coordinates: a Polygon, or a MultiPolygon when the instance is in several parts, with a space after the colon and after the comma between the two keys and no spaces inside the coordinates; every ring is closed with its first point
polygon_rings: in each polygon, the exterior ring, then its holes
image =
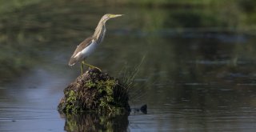
{"type": "Polygon", "coordinates": [[[101,43],[105,37],[106,25],[105,22],[98,22],[98,26],[95,29],[93,38],[96,39],[97,43],[101,43]]]}

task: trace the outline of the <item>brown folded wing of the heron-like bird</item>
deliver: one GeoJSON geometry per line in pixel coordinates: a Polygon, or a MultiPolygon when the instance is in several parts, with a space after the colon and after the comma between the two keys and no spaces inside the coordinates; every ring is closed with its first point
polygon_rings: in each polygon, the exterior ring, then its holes
{"type": "Polygon", "coordinates": [[[86,46],[90,46],[90,44],[93,42],[92,37],[86,38],[83,42],[81,42],[77,48],[74,50],[74,54],[70,58],[69,65],[73,66],[78,60],[74,58],[80,51],[86,48],[86,46]]]}

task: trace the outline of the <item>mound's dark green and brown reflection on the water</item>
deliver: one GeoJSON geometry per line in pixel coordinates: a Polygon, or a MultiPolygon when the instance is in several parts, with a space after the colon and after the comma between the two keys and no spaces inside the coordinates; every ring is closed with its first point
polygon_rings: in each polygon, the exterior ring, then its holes
{"type": "Polygon", "coordinates": [[[60,114],[65,118],[64,130],[79,131],[126,131],[128,115],[60,114]]]}

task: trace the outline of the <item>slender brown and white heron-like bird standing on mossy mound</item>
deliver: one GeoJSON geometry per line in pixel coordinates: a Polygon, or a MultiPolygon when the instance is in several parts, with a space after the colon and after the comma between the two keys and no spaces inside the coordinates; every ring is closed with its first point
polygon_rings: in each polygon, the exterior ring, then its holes
{"type": "Polygon", "coordinates": [[[98,26],[96,27],[94,34],[86,38],[76,47],[76,49],[74,50],[74,54],[70,57],[69,66],[74,66],[77,62],[82,61],[81,74],[83,74],[83,65],[89,66],[90,68],[96,68],[102,71],[98,67],[86,63],[86,58],[88,58],[90,54],[92,54],[94,50],[98,47],[98,45],[102,43],[106,34],[106,22],[110,18],[117,18],[121,17],[122,15],[124,14],[103,15],[100,21],[98,22],[98,26]]]}

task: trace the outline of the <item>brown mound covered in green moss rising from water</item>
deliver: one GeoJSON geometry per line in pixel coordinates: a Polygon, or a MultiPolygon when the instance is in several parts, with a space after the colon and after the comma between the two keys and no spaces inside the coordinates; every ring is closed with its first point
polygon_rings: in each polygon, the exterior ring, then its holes
{"type": "Polygon", "coordinates": [[[58,110],[64,113],[127,114],[130,112],[128,100],[128,91],[118,79],[91,69],[65,88],[58,110]]]}

